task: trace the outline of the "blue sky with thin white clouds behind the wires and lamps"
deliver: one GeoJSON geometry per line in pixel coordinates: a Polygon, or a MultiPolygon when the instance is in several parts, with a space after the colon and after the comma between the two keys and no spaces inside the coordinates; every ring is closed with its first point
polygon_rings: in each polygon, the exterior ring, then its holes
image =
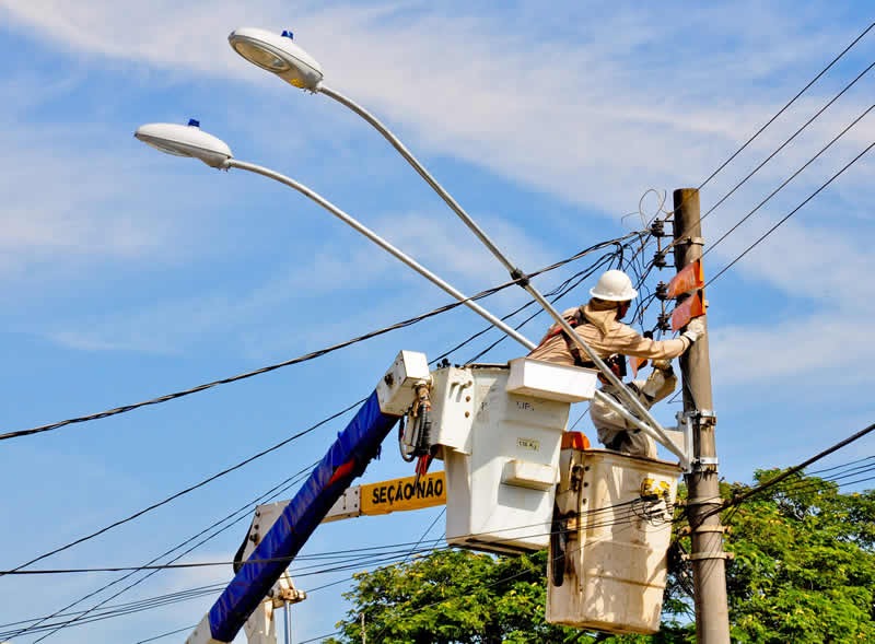
{"type": "MultiPolygon", "coordinates": [[[[505,280],[366,124],[237,57],[225,40],[235,27],[294,31],[322,62],[326,83],[389,125],[499,245],[534,270],[634,227],[635,218],[622,216],[649,189],[667,190],[670,202],[672,189],[699,185],[871,22],[860,3],[826,2],[556,2],[545,12],[524,1],[495,9],[4,0],[0,355],[8,402],[0,430],[185,389],[447,302],[279,184],[145,148],[132,137],[143,122],[199,118],[238,159],[311,186],[465,292],[505,280]]],[[[708,184],[703,211],[863,71],[873,52],[870,33],[708,184]]],[[[870,75],[714,210],[705,237],[719,238],[867,109],[870,75]]],[[[874,134],[870,115],[716,246],[707,274],[874,134]]],[[[801,461],[872,422],[872,171],[863,157],[709,291],[719,453],[728,480],[801,461]]],[[[656,206],[650,194],[642,208],[652,214],[656,206]]],[[[548,290],[574,266],[538,285],[548,290]]],[[[584,300],[586,288],[563,304],[584,300]]],[[[508,292],[485,304],[503,315],[523,301],[508,292]]],[[[545,324],[524,332],[537,339],[545,324]]],[[[454,311],[257,378],[5,441],[0,567],[128,516],[347,407],[373,389],[398,350],[438,355],[481,327],[470,312],[454,311]]],[[[506,341],[486,359],[520,353],[506,341]]],[[[674,411],[663,406],[657,417],[668,424],[674,411]]],[[[342,426],[327,425],[38,566],[142,564],[319,458],[342,426]]],[[[873,452],[875,438],[867,438],[825,462],[873,452]]],[[[408,469],[388,445],[366,477],[408,469]]],[[[416,541],[435,513],[324,526],[306,552],[416,541]]],[[[247,524],[187,560],[230,559],[247,524]]],[[[115,601],[229,575],[224,567],[165,572],[115,601]]],[[[307,576],[299,585],[343,576],[307,576]]],[[[0,622],[48,614],[112,578],[2,577],[0,622]]],[[[295,607],[295,641],[334,630],[346,610],[343,589],[313,593],[295,607]]],[[[213,598],[68,629],[49,641],[137,642],[196,623],[213,598]]]]}

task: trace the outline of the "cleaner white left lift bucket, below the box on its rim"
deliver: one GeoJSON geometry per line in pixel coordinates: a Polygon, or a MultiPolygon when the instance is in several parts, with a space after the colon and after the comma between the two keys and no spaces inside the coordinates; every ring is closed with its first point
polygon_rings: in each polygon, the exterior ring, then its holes
{"type": "Polygon", "coordinates": [[[433,374],[432,431],[446,472],[447,543],[491,552],[547,547],[571,406],[508,394],[509,375],[504,365],[433,374]]]}

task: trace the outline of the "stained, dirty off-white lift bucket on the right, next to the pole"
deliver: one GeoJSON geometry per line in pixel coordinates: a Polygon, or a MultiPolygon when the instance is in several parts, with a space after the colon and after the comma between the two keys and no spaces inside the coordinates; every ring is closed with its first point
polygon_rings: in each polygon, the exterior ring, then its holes
{"type": "MultiPolygon", "coordinates": [[[[563,449],[561,469],[557,507],[568,513],[571,532],[563,583],[549,575],[547,621],[611,633],[658,631],[680,468],[604,449],[563,449]]],[[[549,560],[556,555],[551,548],[549,560]]]]}

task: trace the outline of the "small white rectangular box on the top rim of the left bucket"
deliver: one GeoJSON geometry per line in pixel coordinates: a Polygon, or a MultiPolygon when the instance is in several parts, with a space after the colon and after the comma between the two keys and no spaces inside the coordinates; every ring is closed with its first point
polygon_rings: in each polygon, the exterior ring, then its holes
{"type": "Polygon", "coordinates": [[[595,395],[597,371],[529,358],[517,358],[509,364],[511,365],[511,375],[508,378],[509,394],[560,402],[592,400],[595,395]]]}

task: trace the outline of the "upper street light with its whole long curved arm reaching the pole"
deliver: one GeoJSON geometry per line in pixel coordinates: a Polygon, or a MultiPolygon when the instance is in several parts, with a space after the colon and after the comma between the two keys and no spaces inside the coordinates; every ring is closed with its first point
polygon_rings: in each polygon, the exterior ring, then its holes
{"type": "MultiPolygon", "coordinates": [[[[396,137],[380,119],[368,112],[364,107],[345,96],[340,92],[331,90],[324,82],[324,74],[322,66],[307,54],[302,47],[293,42],[293,35],[289,31],[282,32],[281,36],[267,30],[257,27],[242,27],[231,32],[228,36],[228,42],[231,47],[240,54],[243,58],[276,73],[284,81],[291,83],[295,87],[307,90],[310,92],[318,92],[330,96],[338,103],[346,105],[352,112],[361,116],[371,126],[374,127],[383,137],[392,144],[395,150],[419,173],[419,175],[428,183],[432,189],[444,200],[444,202],[455,212],[458,218],[467,225],[471,232],[482,242],[490,253],[504,266],[511,274],[511,278],[518,280],[523,289],[532,295],[538,304],[562,327],[568,336],[580,347],[591,361],[598,367],[605,378],[614,386],[619,396],[644,419],[652,428],[660,438],[660,443],[668,447],[674,454],[678,455],[681,462],[686,467],[688,461],[686,455],[680,450],[666,434],[663,426],[650,413],[650,410],[642,405],[637,396],[632,395],[622,382],[614,375],[605,362],[593,351],[593,349],[578,335],[574,328],[568,324],[562,315],[553,307],[549,300],[547,300],[532,283],[528,281],[528,276],[517,268],[498,246],[489,238],[483,230],[474,221],[474,219],[465,212],[459,203],[447,192],[438,179],[435,179],[429,171],[417,160],[416,156],[405,147],[404,143],[396,137]]],[[[503,329],[502,329],[503,330],[503,329]]],[[[612,406],[611,406],[612,407],[612,406]]],[[[626,414],[623,414],[626,415],[626,414]]],[[[638,423],[637,423],[638,424],[638,423]]]]}

